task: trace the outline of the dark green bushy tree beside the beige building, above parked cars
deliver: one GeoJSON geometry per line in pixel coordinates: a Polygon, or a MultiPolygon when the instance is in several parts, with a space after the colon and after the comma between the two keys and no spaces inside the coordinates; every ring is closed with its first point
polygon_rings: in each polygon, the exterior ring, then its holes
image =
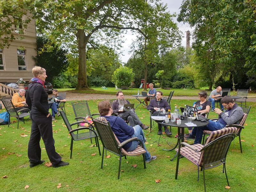
{"type": "Polygon", "coordinates": [[[47,81],[52,82],[54,77],[59,76],[67,69],[68,61],[66,58],[67,51],[56,44],[51,44],[53,49],[50,52],[45,50],[44,45],[49,42],[46,37],[37,36],[37,56],[33,59],[37,66],[46,69],[47,81]]]}

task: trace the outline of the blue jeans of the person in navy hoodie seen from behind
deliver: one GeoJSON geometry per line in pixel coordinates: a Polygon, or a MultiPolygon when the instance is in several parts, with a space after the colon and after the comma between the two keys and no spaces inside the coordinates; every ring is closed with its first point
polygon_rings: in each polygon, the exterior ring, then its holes
{"type": "MultiPolygon", "coordinates": [[[[133,127],[134,129],[134,133],[132,135],[132,137],[137,137],[139,140],[141,140],[142,142],[145,142],[146,139],[144,137],[144,133],[141,129],[141,127],[139,125],[135,125],[133,127]]],[[[126,150],[126,151],[133,151],[137,148],[137,146],[139,145],[139,141],[132,141],[132,145],[126,150]]],[[[145,153],[145,160],[149,160],[150,159],[150,153],[147,151],[147,149],[145,148],[146,153],[145,153]]]]}

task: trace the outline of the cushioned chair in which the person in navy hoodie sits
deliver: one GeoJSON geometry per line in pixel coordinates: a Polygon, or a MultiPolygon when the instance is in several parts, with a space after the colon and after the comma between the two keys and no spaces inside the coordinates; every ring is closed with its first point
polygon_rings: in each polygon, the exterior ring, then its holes
{"type": "Polygon", "coordinates": [[[97,117],[93,119],[93,123],[95,125],[95,128],[99,134],[100,140],[103,144],[103,151],[102,151],[102,160],[101,160],[101,169],[103,168],[103,158],[104,158],[104,150],[119,156],[119,168],[118,168],[118,179],[120,177],[120,168],[121,168],[121,160],[122,156],[138,156],[141,155],[143,156],[143,161],[144,161],[144,169],[146,168],[145,164],[145,146],[144,142],[139,140],[137,137],[130,138],[122,143],[117,139],[116,135],[113,133],[109,122],[107,122],[105,117],[97,117]],[[139,141],[141,146],[138,145],[138,147],[134,151],[126,151],[123,146],[129,142],[132,141],[139,141]]]}

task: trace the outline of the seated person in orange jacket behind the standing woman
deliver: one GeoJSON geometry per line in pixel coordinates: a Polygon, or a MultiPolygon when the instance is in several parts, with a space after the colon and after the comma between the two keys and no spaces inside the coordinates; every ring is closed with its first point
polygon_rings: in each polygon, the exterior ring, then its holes
{"type": "Polygon", "coordinates": [[[25,92],[26,92],[25,89],[20,89],[19,92],[14,93],[12,96],[12,104],[14,105],[15,108],[18,108],[18,110],[27,108],[28,110],[24,110],[22,112],[28,113],[29,108],[26,104],[26,99],[24,97],[25,92]]]}

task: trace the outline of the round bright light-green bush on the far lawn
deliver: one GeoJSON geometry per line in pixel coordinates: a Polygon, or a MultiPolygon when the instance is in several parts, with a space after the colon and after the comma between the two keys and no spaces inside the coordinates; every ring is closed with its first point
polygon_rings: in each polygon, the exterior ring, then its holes
{"type": "Polygon", "coordinates": [[[128,67],[120,67],[114,71],[112,75],[112,83],[121,86],[129,86],[134,79],[135,74],[133,70],[128,67]]]}

